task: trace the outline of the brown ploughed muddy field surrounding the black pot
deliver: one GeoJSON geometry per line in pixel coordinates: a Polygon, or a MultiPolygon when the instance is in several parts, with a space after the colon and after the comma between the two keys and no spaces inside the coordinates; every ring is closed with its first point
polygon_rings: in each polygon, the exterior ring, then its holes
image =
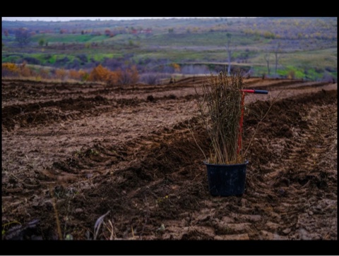
{"type": "Polygon", "coordinates": [[[3,79],[2,240],[337,240],[337,84],[245,79],[245,191],[213,197],[204,79],[3,79]]]}

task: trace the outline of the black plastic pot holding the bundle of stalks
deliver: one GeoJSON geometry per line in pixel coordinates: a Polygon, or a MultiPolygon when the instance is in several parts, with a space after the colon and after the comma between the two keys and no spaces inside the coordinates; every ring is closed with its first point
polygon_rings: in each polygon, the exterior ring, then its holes
{"type": "Polygon", "coordinates": [[[242,195],[245,190],[246,166],[244,164],[208,164],[208,188],[211,195],[230,196],[242,195]]]}

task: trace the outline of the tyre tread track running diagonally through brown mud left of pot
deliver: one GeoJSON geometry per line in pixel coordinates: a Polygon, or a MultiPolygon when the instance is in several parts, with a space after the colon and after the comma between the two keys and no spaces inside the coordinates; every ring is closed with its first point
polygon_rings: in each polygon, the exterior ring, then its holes
{"type": "MultiPolygon", "coordinates": [[[[52,169],[50,169],[52,174],[47,176],[57,178],[59,171],[59,173],[62,172],[60,175],[71,173],[92,177],[93,173],[101,175],[106,173],[107,169],[126,169],[126,166],[130,168],[129,165],[134,161],[143,161],[141,160],[143,157],[150,157],[148,155],[150,152],[154,151],[153,154],[155,154],[164,145],[176,142],[176,137],[191,137],[192,130],[190,130],[189,126],[193,123],[196,123],[196,118],[177,123],[172,128],[164,127],[160,130],[153,130],[148,136],[142,135],[128,142],[117,144],[100,142],[92,147],[82,147],[81,150],[68,157],[66,161],[54,162],[52,169]],[[91,174],[87,175],[86,173],[91,174]]],[[[156,158],[159,157],[163,156],[160,154],[156,158]]],[[[186,160],[188,161],[189,159],[186,160]]],[[[66,180],[67,178],[64,178],[64,181],[66,180]]]]}

